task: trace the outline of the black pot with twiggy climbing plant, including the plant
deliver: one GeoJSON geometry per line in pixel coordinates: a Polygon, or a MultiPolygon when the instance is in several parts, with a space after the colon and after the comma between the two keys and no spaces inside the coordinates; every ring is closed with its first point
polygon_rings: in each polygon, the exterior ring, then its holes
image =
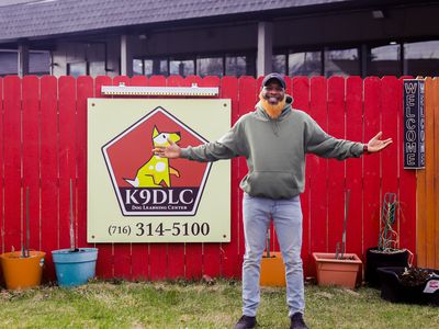
{"type": "Polygon", "coordinates": [[[399,249],[395,226],[395,213],[399,204],[395,193],[385,193],[381,218],[378,247],[369,248],[365,253],[364,280],[370,286],[380,286],[379,268],[412,266],[413,253],[408,249],[399,249]]]}

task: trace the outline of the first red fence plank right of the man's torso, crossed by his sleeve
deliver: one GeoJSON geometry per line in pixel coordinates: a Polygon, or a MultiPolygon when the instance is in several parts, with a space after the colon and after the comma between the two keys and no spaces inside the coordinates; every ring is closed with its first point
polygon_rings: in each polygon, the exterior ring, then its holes
{"type": "MultiPolygon", "coordinates": [[[[327,131],[327,86],[324,77],[311,78],[311,116],[327,131]]],[[[327,159],[318,158],[314,155],[308,157],[309,162],[309,229],[311,252],[326,252],[328,250],[327,240],[327,159]]],[[[309,266],[314,273],[314,264],[309,266]]]]}

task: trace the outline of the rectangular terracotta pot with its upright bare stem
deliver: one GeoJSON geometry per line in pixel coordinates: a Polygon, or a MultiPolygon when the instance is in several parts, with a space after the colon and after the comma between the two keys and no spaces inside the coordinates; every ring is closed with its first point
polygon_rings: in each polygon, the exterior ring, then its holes
{"type": "Polygon", "coordinates": [[[313,252],[318,285],[340,285],[348,288],[356,287],[357,277],[359,275],[362,262],[356,253],[345,253],[349,195],[350,191],[347,190],[341,247],[338,242],[335,253],[313,252]]]}

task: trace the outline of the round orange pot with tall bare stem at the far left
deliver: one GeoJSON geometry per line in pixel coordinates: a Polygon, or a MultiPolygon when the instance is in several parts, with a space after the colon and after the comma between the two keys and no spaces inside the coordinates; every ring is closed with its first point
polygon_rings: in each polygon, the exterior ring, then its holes
{"type": "MultiPolygon", "coordinates": [[[[29,215],[29,188],[26,188],[26,237],[21,241],[21,251],[5,252],[0,256],[4,282],[8,290],[34,287],[41,284],[43,275],[43,251],[29,249],[30,243],[30,215],[29,215]]],[[[23,225],[22,225],[23,227],[23,225]]]]}

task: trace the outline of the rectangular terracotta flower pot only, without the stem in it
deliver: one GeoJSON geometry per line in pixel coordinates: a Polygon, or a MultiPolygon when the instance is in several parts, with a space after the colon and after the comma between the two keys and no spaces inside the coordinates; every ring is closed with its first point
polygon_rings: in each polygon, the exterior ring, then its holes
{"type": "Polygon", "coordinates": [[[340,285],[354,288],[361,269],[361,260],[354,253],[345,253],[336,259],[335,253],[313,252],[316,263],[318,285],[340,285]]]}

